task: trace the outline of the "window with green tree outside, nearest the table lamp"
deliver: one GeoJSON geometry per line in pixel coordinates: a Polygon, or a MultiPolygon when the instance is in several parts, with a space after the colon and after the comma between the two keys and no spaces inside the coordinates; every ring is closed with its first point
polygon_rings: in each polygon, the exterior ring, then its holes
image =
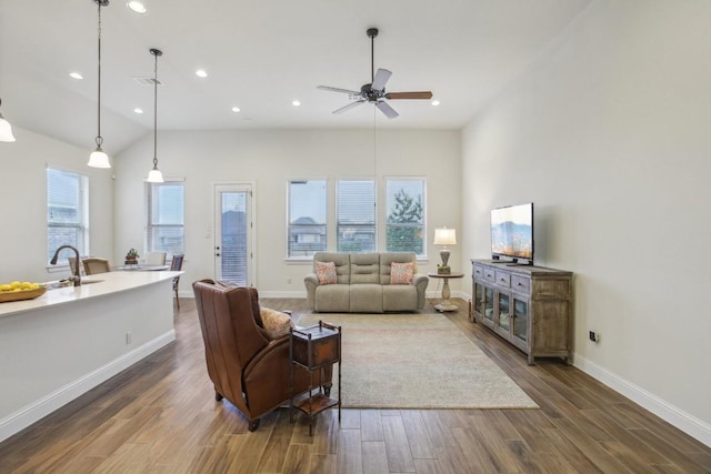
{"type": "Polygon", "coordinates": [[[385,185],[385,250],[424,256],[424,180],[392,179],[385,185]]]}

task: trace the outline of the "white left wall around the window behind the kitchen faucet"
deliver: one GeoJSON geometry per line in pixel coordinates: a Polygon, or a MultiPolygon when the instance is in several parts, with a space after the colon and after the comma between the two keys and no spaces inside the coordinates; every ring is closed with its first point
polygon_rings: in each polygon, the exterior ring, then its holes
{"type": "MultiPolygon", "coordinates": [[[[17,141],[0,142],[0,283],[13,280],[44,282],[69,274],[50,274],[47,270],[48,165],[90,178],[91,253],[111,254],[112,174],[111,170],[87,167],[94,147],[91,135],[88,137],[87,149],[79,149],[18,127],[12,131],[17,141]]],[[[64,252],[66,256],[71,255],[71,252],[64,252]]]]}

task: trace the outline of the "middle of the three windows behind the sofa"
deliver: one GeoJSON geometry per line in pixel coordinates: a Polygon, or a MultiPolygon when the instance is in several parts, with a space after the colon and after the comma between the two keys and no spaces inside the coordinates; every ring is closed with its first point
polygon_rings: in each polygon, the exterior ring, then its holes
{"type": "Polygon", "coordinates": [[[373,180],[338,182],[336,225],[339,252],[375,251],[375,182],[373,180]]]}

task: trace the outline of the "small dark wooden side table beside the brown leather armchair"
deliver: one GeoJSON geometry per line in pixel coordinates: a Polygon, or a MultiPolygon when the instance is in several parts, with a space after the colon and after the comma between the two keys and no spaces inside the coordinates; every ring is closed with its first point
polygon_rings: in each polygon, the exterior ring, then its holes
{"type": "Polygon", "coordinates": [[[323,369],[329,364],[341,363],[341,326],[323,321],[319,324],[291,330],[289,353],[291,356],[291,417],[293,409],[309,416],[309,436],[313,435],[313,417],[324,410],[338,406],[338,421],[341,422],[341,367],[338,371],[338,400],[323,392],[323,369]],[[309,372],[309,392],[306,397],[294,402],[293,369],[301,365],[309,372]],[[319,373],[319,391],[313,393],[313,372],[319,373]]]}

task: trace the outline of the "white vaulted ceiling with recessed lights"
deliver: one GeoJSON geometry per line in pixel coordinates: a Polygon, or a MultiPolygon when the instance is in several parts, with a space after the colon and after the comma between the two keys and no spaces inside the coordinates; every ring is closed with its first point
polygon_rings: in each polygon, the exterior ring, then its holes
{"type": "MultiPolygon", "coordinates": [[[[150,48],[163,51],[159,130],[459,129],[590,1],[147,0],[138,16],[111,0],[102,8],[104,149],[152,131],[153,87],[137,80],[153,77],[150,48]],[[392,120],[370,104],[331,113],[349,99],[317,85],[370,82],[370,27],[380,30],[375,69],[393,72],[387,90],[431,90],[439,107],[393,100],[392,120]]],[[[11,123],[93,148],[97,13],[93,0],[0,0],[0,110],[11,123]]]]}

